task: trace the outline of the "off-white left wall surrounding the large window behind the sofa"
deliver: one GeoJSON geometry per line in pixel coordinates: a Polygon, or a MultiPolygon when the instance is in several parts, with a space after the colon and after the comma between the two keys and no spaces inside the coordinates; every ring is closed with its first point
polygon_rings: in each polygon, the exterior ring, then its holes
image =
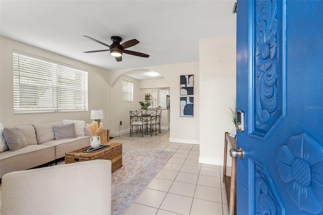
{"type": "Polygon", "coordinates": [[[91,110],[103,110],[101,121],[105,129],[110,122],[109,75],[106,70],[75,61],[55,53],[39,49],[5,37],[0,37],[0,122],[7,126],[28,125],[43,122],[56,122],[63,119],[84,120],[89,123],[91,110]],[[13,49],[28,52],[36,56],[70,64],[88,71],[88,112],[49,113],[49,114],[14,114],[13,108],[13,49]]]}

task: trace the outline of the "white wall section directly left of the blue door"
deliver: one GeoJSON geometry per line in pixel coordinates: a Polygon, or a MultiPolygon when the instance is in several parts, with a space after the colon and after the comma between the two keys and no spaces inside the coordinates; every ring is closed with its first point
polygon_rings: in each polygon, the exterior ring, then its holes
{"type": "Polygon", "coordinates": [[[199,58],[199,162],[223,166],[224,135],[235,128],[227,106],[236,95],[236,36],[200,40],[199,58]]]}

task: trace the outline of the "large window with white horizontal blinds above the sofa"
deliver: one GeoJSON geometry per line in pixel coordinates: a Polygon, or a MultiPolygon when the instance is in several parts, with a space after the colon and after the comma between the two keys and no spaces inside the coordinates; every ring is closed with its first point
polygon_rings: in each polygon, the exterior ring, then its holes
{"type": "Polygon", "coordinates": [[[88,111],[87,71],[13,51],[14,112],[88,111]]]}

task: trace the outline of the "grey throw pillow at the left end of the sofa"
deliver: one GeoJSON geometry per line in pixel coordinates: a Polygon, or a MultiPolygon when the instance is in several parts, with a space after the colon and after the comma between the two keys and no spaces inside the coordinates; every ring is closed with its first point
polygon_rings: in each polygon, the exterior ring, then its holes
{"type": "Polygon", "coordinates": [[[24,134],[16,127],[4,128],[4,137],[10,151],[15,151],[28,145],[24,134]]]}

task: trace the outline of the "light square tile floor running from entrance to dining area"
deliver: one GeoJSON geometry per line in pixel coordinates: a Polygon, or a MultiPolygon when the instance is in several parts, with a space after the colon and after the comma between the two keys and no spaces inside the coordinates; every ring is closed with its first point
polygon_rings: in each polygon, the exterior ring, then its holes
{"type": "Polygon", "coordinates": [[[162,130],[157,136],[126,133],[111,140],[127,147],[174,152],[124,214],[229,214],[223,167],[199,164],[199,145],[171,143],[169,136],[162,130]]]}

